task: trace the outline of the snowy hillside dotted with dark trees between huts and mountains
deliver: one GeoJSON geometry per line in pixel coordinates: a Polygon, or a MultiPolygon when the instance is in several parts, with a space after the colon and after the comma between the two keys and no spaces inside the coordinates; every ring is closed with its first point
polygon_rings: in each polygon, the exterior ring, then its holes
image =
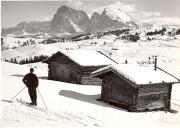
{"type": "Polygon", "coordinates": [[[149,57],[152,61],[153,56],[157,55],[160,66],[163,63],[172,65],[171,63],[180,62],[180,36],[175,34],[177,30],[178,28],[173,27],[120,29],[82,34],[64,41],[33,38],[35,43],[25,46],[18,45],[17,42],[23,44],[23,41],[27,42],[29,38],[4,37],[2,47],[9,47],[2,51],[1,59],[6,61],[16,59],[19,62],[35,56],[51,56],[58,50],[89,49],[101,51],[121,63],[125,60],[129,63],[147,63],[149,57]]]}

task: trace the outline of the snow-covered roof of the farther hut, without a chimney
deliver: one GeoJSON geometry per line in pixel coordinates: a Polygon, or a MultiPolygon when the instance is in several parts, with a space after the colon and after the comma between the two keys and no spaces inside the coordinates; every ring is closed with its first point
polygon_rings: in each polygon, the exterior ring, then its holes
{"type": "MultiPolygon", "coordinates": [[[[92,50],[64,50],[60,53],[73,60],[81,66],[102,66],[115,64],[113,60],[103,55],[101,52],[92,50]]],[[[50,57],[51,58],[51,57],[50,57]]],[[[48,60],[45,60],[45,62],[48,60]]]]}

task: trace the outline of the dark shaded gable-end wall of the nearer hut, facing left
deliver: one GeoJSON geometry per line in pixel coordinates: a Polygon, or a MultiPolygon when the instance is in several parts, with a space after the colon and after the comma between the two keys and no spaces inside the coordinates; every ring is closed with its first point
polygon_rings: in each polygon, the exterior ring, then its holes
{"type": "Polygon", "coordinates": [[[136,89],[113,73],[103,76],[102,99],[114,100],[126,104],[134,104],[136,89]]]}

